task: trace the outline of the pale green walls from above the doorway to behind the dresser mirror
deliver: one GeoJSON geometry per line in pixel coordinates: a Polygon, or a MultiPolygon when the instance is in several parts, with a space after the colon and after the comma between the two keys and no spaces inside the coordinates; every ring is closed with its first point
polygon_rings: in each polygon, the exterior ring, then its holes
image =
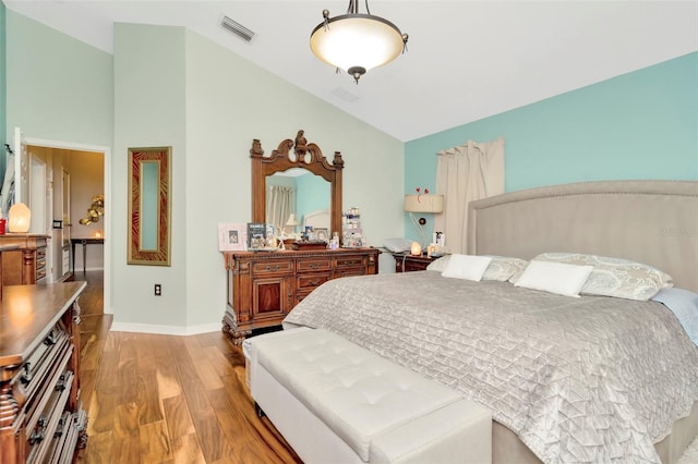
{"type": "Polygon", "coordinates": [[[184,28],[117,24],[112,56],[10,10],[7,24],[3,127],[112,147],[105,194],[115,327],[219,330],[226,276],[217,224],[251,219],[253,138],[268,152],[304,129],[330,159],[342,151],[345,204],[362,206],[372,243],[401,235],[402,178],[383,173],[402,171],[404,144],[281,77],[184,28]],[[172,262],[128,266],[128,148],[160,145],[172,146],[172,262]],[[154,283],[163,296],[153,295],[154,283]]]}

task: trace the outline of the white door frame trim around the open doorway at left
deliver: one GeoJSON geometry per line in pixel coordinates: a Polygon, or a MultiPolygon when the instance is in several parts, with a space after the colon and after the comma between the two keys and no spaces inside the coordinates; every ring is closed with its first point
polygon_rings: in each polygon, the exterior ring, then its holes
{"type": "MultiPolygon", "coordinates": [[[[25,145],[34,145],[37,147],[103,152],[105,155],[105,210],[113,211],[111,207],[111,147],[107,147],[104,145],[77,144],[74,142],[64,141],[48,141],[35,137],[25,137],[24,143],[25,145]]],[[[106,241],[106,245],[104,247],[104,314],[113,314],[113,308],[111,307],[111,240],[113,240],[113,237],[111,236],[111,215],[105,215],[103,217],[103,220],[105,221],[105,239],[109,240],[108,242],[106,241]]]]}

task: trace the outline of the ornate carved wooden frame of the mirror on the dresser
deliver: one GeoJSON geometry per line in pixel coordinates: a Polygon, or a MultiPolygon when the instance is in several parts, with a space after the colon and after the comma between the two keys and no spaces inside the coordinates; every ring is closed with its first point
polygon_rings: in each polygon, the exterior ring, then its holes
{"type": "Polygon", "coordinates": [[[345,162],[339,151],[335,151],[330,164],[317,145],[305,143],[301,130],[298,131],[294,141],[285,139],[268,157],[264,156],[260,141],[254,138],[250,158],[252,159],[253,222],[266,222],[266,176],[291,168],[302,168],[330,183],[329,225],[332,230],[329,233],[337,232],[341,237],[341,172],[345,162]],[[293,155],[291,155],[291,148],[293,155]]]}

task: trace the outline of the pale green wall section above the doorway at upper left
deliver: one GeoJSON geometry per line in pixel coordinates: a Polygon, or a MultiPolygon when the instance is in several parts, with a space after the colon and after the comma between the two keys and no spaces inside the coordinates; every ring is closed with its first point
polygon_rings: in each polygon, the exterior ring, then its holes
{"type": "Polygon", "coordinates": [[[111,56],[7,10],[7,134],[111,146],[111,56]]]}

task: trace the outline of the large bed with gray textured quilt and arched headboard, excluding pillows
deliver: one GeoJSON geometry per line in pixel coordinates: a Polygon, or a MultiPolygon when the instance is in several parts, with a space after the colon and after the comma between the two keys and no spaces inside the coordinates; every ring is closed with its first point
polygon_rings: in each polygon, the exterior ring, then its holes
{"type": "MultiPolygon", "coordinates": [[[[698,182],[578,183],[474,202],[469,254],[624,258],[698,292],[698,182]]],[[[494,462],[672,463],[698,435],[698,347],[654,300],[426,270],[329,281],[284,325],[336,332],[490,407],[494,462]]]]}

